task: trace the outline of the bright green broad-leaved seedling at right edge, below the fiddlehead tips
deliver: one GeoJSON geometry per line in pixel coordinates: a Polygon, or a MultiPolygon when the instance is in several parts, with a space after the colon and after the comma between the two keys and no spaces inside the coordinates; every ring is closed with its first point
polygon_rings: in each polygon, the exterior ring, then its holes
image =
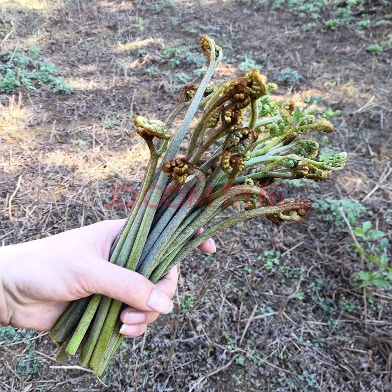
{"type": "Polygon", "coordinates": [[[388,266],[388,245],[386,234],[371,228],[371,222],[366,221],[362,227],[356,227],[353,231],[358,238],[358,244],[354,244],[355,250],[376,266],[375,270],[361,271],[354,275],[354,281],[359,287],[381,286],[390,287],[392,282],[392,268],[388,266]],[[360,244],[361,243],[361,244],[360,244]]]}

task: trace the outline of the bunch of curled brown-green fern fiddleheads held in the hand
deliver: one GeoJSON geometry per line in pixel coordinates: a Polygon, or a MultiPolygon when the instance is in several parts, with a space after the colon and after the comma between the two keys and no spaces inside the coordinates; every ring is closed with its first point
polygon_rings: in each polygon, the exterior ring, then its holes
{"type": "MultiPolygon", "coordinates": [[[[274,102],[269,94],[277,85],[258,70],[220,86],[210,85],[222,49],[208,36],[202,37],[201,49],[209,58],[208,69],[198,86],[182,89],[165,122],[135,119],[150,161],[109,262],[152,282],[206,239],[240,221],[262,216],[278,225],[301,221],[310,201],[287,198],[273,205],[266,186],[277,178],[322,181],[331,171],[343,169],[347,159],[341,152],[317,161],[318,143],[299,136],[311,129],[332,132],[333,125],[310,115],[293,123],[293,102],[274,102]],[[186,108],[180,126],[171,131],[173,120],[186,108]],[[198,121],[190,131],[196,113],[198,121]],[[177,156],[184,139],[186,156],[177,156]],[[243,212],[195,238],[201,227],[238,201],[245,205],[243,212]]],[[[119,317],[123,306],[99,294],[73,301],[50,332],[59,346],[57,359],[64,361],[78,352],[80,364],[101,375],[123,340],[119,317]]]]}

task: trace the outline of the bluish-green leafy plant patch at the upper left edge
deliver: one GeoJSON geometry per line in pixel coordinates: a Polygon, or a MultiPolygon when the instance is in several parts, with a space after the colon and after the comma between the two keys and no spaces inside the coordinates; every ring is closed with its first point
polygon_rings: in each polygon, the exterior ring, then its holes
{"type": "Polygon", "coordinates": [[[8,52],[0,61],[0,93],[13,94],[20,88],[36,90],[37,86],[48,86],[54,93],[71,93],[72,87],[61,76],[51,62],[37,61],[38,48],[30,51],[8,52]]]}

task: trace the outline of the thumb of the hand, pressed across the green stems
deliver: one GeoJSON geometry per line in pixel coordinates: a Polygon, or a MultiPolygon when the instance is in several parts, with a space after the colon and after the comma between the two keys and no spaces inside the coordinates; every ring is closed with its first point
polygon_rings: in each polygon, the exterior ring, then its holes
{"type": "Polygon", "coordinates": [[[87,273],[86,289],[91,294],[103,294],[143,311],[169,313],[173,309],[172,300],[140,273],[103,259],[98,265],[91,263],[87,273]]]}

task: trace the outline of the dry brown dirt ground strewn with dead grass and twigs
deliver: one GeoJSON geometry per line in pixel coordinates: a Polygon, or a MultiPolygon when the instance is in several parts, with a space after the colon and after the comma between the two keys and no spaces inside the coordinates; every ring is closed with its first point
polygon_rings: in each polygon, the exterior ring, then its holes
{"type": "Polygon", "coordinates": [[[311,108],[336,130],[321,151],[347,151],[346,168],[272,190],[314,201],[306,220],[247,222],[185,260],[172,314],[124,341],[102,382],[56,363],[46,333],[3,330],[0,391],[392,391],[392,291],[356,286],[377,266],[352,232],[370,221],[392,240],[389,1],[0,1],[2,55],[38,49],[72,88],[0,95],[2,245],[126,216],[105,206],[147,164],[133,118],[163,119],[200,80],[203,33],[223,48],[214,81],[256,64],[276,96],[322,97],[311,108]]]}

